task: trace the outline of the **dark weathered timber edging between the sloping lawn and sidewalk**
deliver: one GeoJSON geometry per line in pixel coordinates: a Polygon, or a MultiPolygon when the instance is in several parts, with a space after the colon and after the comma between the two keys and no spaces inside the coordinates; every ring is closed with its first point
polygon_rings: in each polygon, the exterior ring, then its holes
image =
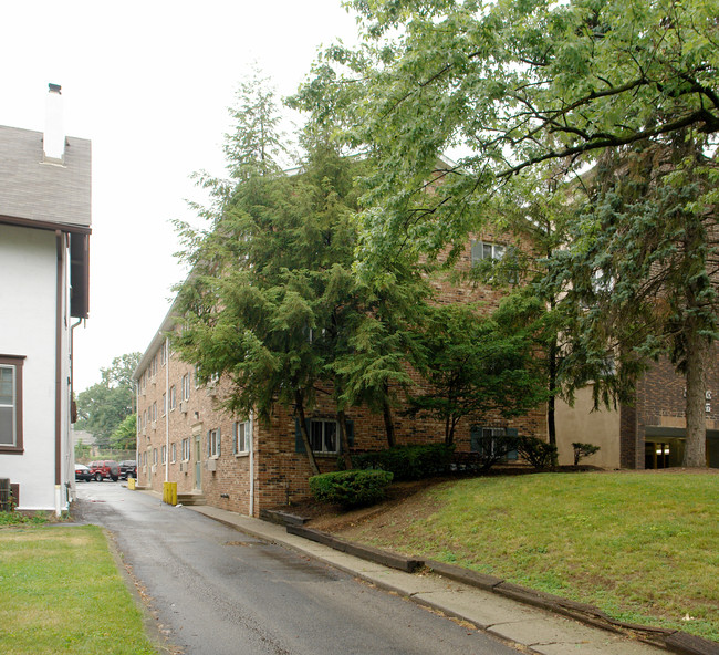
{"type": "MultiPolygon", "coordinates": [[[[278,520],[278,518],[281,519],[281,517],[273,517],[272,522],[281,524],[282,521],[278,520]]],[[[719,644],[716,642],[710,642],[681,631],[623,623],[611,618],[594,605],[570,601],[512,582],[507,582],[493,575],[484,575],[476,571],[462,569],[461,566],[433,560],[416,560],[376,548],[352,543],[338,539],[329,532],[305,528],[302,524],[298,524],[298,522],[300,522],[298,521],[298,517],[292,516],[292,520],[284,523],[289,534],[295,534],[322,543],[341,552],[353,554],[377,564],[407,573],[414,573],[418,569],[426,566],[431,572],[456,582],[490,591],[513,601],[546,610],[548,612],[561,614],[593,627],[634,636],[653,646],[660,646],[668,651],[680,653],[681,655],[719,655],[719,644]]]]}

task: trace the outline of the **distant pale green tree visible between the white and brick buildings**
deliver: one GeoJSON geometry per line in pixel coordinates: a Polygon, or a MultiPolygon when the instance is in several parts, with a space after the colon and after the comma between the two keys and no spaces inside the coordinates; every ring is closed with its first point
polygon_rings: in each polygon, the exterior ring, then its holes
{"type": "Polygon", "coordinates": [[[77,395],[75,428],[87,430],[100,447],[108,447],[111,435],[133,413],[135,384],[133,372],[140,353],[128,353],[113,360],[108,368],[101,368],[101,382],[77,395]]]}

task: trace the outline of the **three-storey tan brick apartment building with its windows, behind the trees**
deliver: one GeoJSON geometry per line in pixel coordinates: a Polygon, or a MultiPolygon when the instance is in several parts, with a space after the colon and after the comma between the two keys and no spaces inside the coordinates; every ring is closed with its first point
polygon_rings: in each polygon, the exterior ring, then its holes
{"type": "MultiPolygon", "coordinates": [[[[470,243],[458,268],[469,269],[475,258],[496,257],[502,243],[492,235],[470,243]],[[481,254],[482,248],[484,254],[481,254]]],[[[497,306],[501,292],[470,284],[437,282],[440,302],[481,300],[489,309],[497,306]]],[[[195,383],[194,367],[171,352],[168,334],[175,329],[173,309],[159,326],[143,355],[134,378],[137,383],[137,457],[138,484],[160,490],[164,481],[177,482],[178,493],[201,495],[209,505],[257,516],[263,508],[286,505],[309,495],[311,475],[302,451],[299,425],[291,410],[277,406],[270,425],[252,416],[231,416],[221,410],[222,381],[207,387],[195,383]]],[[[315,457],[321,470],[335,470],[337,448],[336,408],[329,396],[321,395],[308,412],[311,434],[321,450],[315,457]],[[330,437],[330,438],[322,438],[330,437]]],[[[350,445],[353,449],[386,447],[384,419],[365,407],[347,410],[350,445]]],[[[437,443],[444,438],[444,424],[433,419],[408,418],[395,412],[398,444],[437,443]]],[[[539,408],[507,422],[499,416],[478,425],[465,419],[457,428],[458,450],[471,449],[470,430],[487,428],[483,434],[517,430],[522,435],[545,438],[546,417],[539,408]]]]}

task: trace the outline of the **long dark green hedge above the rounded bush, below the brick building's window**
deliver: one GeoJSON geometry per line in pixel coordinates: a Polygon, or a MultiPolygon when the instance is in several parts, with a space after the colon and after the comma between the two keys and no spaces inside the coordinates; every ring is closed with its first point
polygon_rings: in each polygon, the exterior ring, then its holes
{"type": "Polygon", "coordinates": [[[446,474],[454,451],[455,447],[446,444],[396,446],[376,453],[353,455],[352,466],[357,469],[390,471],[397,481],[423,480],[446,474]]]}

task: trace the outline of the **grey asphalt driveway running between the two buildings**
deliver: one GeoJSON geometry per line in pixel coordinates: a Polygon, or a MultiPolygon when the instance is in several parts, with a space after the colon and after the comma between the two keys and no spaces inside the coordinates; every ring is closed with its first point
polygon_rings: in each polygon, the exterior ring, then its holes
{"type": "Polygon", "coordinates": [[[79,482],[187,655],[517,655],[345,573],[119,484],[79,482]]]}

